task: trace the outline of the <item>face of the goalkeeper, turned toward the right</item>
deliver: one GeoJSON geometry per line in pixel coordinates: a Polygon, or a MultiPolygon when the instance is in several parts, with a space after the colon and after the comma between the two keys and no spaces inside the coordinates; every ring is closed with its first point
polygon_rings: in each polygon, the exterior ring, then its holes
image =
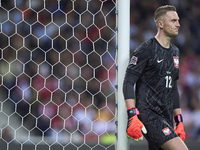
{"type": "Polygon", "coordinates": [[[168,11],[166,15],[162,19],[163,21],[163,31],[165,35],[169,37],[174,37],[178,34],[178,30],[180,27],[179,17],[177,12],[168,11]]]}

